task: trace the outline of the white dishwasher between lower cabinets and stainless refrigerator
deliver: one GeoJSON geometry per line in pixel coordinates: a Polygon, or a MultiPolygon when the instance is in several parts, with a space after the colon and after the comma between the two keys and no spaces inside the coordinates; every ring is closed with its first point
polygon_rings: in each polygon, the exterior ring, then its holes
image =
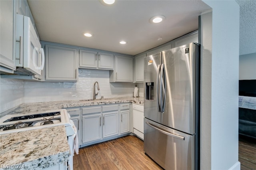
{"type": "Polygon", "coordinates": [[[144,106],[132,104],[133,112],[133,132],[138,137],[144,139],[144,106]]]}

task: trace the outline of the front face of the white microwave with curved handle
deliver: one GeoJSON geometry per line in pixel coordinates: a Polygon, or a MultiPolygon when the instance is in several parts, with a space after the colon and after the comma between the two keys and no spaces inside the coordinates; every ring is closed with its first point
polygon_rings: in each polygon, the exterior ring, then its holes
{"type": "Polygon", "coordinates": [[[24,16],[23,31],[23,67],[28,71],[42,75],[44,69],[44,49],[29,17],[24,16]]]}

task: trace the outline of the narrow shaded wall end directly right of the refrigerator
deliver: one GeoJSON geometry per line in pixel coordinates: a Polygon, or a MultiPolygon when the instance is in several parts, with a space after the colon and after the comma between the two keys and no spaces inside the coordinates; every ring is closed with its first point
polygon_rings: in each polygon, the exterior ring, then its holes
{"type": "Polygon", "coordinates": [[[212,12],[201,15],[200,168],[211,169],[212,12]]]}

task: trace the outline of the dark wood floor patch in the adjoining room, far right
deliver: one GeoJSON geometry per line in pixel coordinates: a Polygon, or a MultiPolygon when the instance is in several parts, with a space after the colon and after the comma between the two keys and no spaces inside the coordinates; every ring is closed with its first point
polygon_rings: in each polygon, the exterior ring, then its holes
{"type": "Polygon", "coordinates": [[[256,139],[239,136],[238,161],[241,170],[256,170],[256,139]]]}

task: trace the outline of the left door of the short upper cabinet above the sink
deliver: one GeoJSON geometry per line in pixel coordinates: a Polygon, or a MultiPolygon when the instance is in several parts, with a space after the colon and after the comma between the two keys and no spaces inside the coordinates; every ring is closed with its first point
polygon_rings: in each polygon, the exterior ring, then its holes
{"type": "Polygon", "coordinates": [[[98,67],[98,55],[97,51],[79,50],[79,67],[98,67]]]}

